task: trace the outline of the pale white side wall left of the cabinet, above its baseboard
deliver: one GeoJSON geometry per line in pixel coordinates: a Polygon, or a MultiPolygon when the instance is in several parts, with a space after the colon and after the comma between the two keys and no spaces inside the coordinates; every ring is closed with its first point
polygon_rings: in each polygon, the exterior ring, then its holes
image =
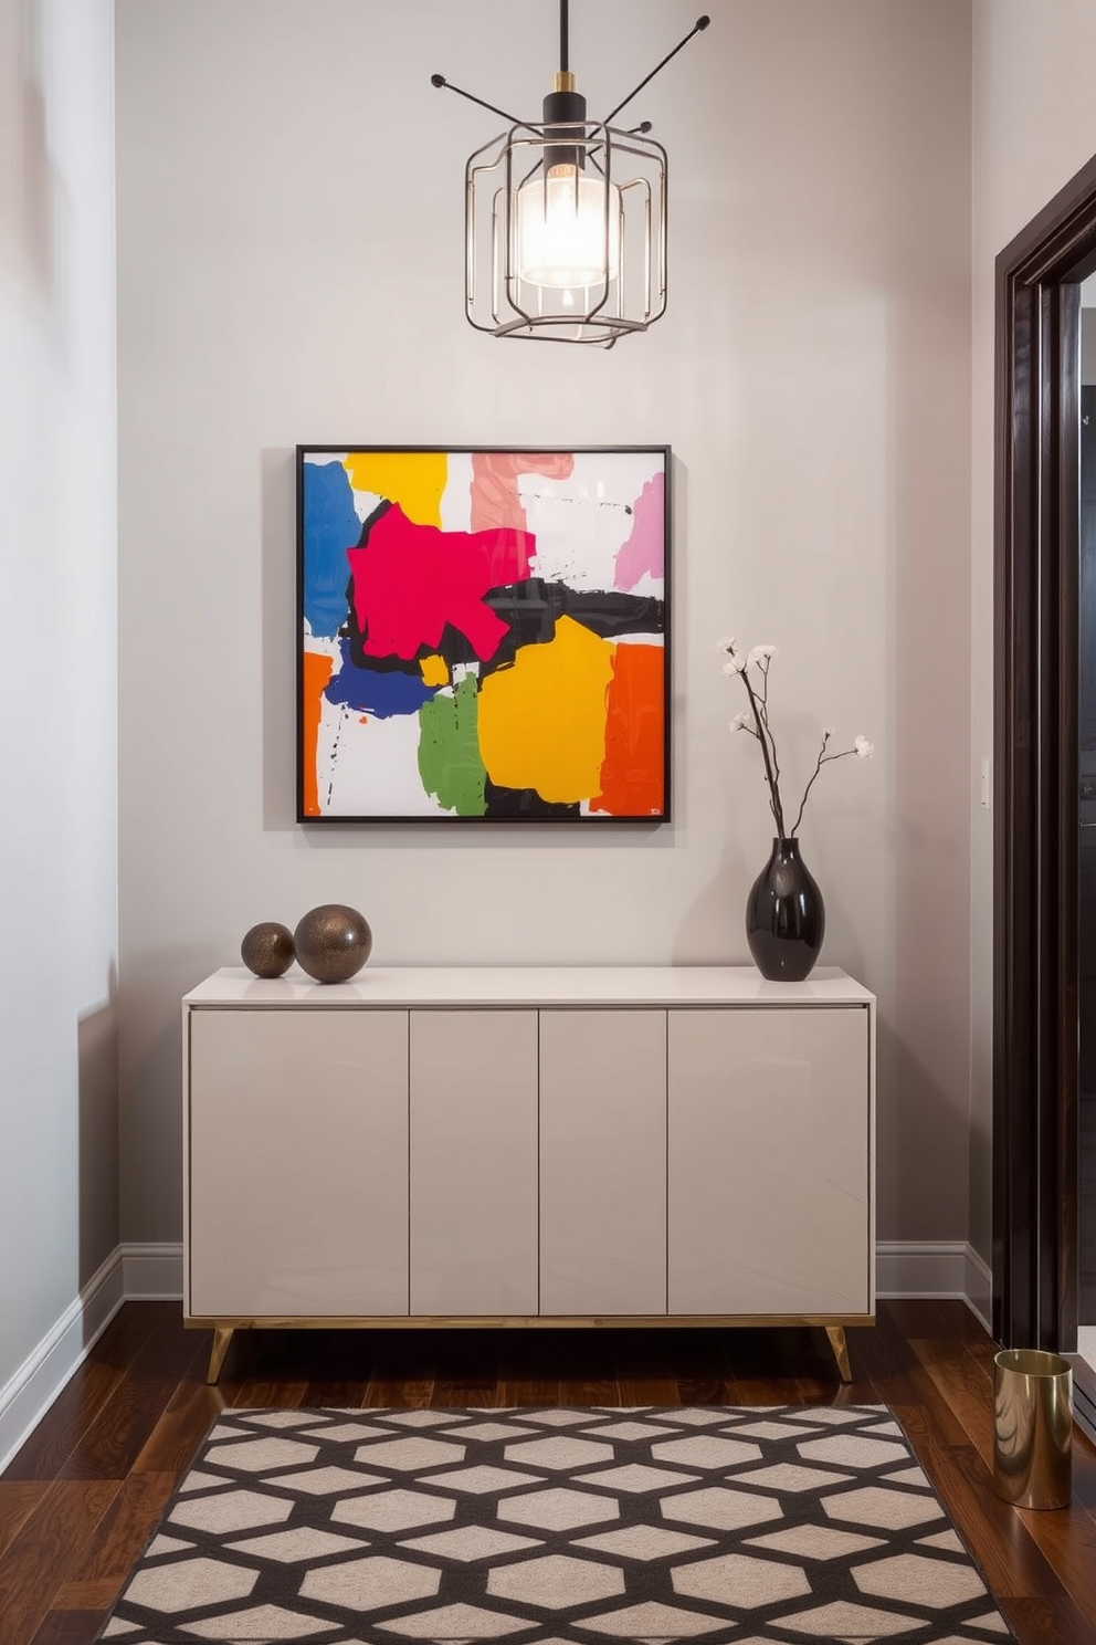
{"type": "Polygon", "coordinates": [[[0,8],[0,1413],[118,1240],[112,13],[0,8]]]}

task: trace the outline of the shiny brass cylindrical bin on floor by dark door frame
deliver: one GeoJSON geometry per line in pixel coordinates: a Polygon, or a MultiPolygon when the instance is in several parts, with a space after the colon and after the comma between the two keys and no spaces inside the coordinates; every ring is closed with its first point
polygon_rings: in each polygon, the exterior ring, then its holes
{"type": "Polygon", "coordinates": [[[1065,1508],[1073,1492],[1073,1372],[1060,1354],[994,1357],[994,1489],[1017,1508],[1065,1508]]]}

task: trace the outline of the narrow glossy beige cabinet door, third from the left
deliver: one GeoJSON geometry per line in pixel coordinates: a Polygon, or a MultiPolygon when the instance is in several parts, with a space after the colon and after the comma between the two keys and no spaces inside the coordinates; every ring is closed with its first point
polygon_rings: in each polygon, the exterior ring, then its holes
{"type": "Polygon", "coordinates": [[[541,1012],[541,1313],[665,1313],[665,1012],[541,1012]]]}

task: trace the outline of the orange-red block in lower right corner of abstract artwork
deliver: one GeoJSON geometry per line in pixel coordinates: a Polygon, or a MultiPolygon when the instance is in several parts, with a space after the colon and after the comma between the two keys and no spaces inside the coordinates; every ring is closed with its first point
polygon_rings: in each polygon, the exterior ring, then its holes
{"type": "Polygon", "coordinates": [[[661,816],[665,809],[665,651],[618,645],[608,689],[601,793],[592,811],[661,816]]]}

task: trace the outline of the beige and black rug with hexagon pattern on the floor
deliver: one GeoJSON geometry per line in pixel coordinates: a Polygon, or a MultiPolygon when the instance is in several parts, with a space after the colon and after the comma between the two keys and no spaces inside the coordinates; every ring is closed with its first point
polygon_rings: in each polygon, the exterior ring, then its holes
{"type": "Polygon", "coordinates": [[[1012,1640],[882,1405],[228,1410],[99,1637],[1012,1640]]]}

